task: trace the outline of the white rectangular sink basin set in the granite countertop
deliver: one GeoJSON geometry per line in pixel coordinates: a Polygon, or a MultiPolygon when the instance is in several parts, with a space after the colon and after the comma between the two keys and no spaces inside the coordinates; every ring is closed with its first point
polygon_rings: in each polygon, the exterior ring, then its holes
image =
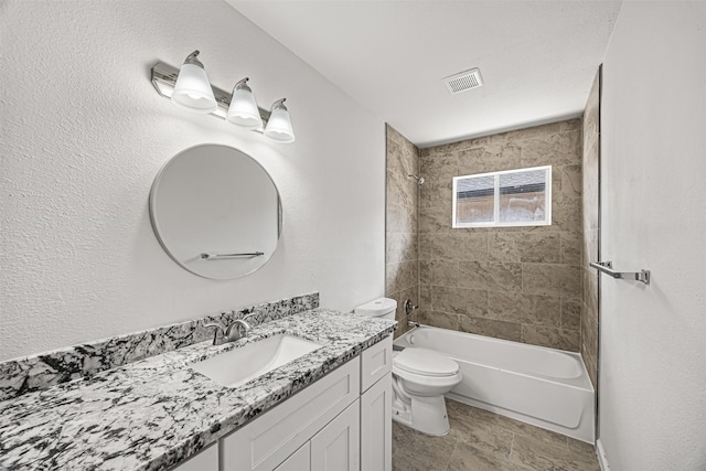
{"type": "Polygon", "coordinates": [[[237,387],[280,367],[322,344],[285,333],[248,343],[189,366],[222,386],[237,387]]]}

